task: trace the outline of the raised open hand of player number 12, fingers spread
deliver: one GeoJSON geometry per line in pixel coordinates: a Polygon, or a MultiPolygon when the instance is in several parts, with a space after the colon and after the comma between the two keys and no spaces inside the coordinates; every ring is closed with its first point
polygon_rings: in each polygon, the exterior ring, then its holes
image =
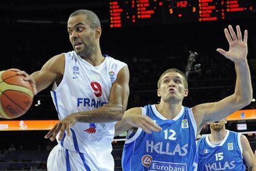
{"type": "Polygon", "coordinates": [[[229,43],[229,51],[224,51],[220,48],[218,48],[217,51],[223,54],[223,56],[225,56],[226,58],[232,60],[233,62],[241,62],[243,60],[246,60],[248,53],[248,31],[244,31],[243,39],[239,25],[236,26],[236,32],[237,34],[234,32],[233,27],[231,25],[228,26],[228,29],[225,28],[224,33],[229,43]]]}

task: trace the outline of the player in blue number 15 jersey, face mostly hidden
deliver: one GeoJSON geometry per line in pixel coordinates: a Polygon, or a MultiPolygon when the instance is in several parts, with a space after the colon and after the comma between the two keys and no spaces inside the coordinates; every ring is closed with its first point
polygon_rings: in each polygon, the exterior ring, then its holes
{"type": "Polygon", "coordinates": [[[256,158],[246,136],[226,130],[227,119],[210,123],[211,134],[198,140],[198,170],[256,170],[256,158]]]}

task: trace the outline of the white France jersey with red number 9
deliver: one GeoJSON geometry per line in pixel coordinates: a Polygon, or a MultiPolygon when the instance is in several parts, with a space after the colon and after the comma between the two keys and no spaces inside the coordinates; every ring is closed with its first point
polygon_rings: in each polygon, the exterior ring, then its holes
{"type": "MultiPolygon", "coordinates": [[[[64,75],[59,86],[54,83],[51,96],[59,119],[81,111],[92,111],[109,102],[109,94],[117,73],[124,62],[105,56],[99,66],[93,66],[78,56],[75,51],[65,53],[64,75]]],[[[72,134],[58,143],[69,151],[84,154],[87,170],[114,170],[111,142],[114,124],[81,123],[72,128],[72,134]]]]}

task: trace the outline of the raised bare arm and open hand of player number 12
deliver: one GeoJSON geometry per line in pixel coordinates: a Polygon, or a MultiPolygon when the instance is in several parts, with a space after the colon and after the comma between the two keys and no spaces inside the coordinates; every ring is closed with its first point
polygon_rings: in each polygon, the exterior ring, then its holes
{"type": "Polygon", "coordinates": [[[237,35],[231,25],[228,28],[229,31],[225,28],[224,33],[229,43],[229,51],[223,49],[217,49],[217,51],[234,62],[237,75],[236,88],[234,94],[221,101],[199,104],[192,108],[198,126],[198,133],[200,133],[203,124],[223,119],[252,101],[252,82],[249,65],[247,64],[248,33],[247,30],[244,31],[242,40],[239,26],[236,27],[237,35]]]}

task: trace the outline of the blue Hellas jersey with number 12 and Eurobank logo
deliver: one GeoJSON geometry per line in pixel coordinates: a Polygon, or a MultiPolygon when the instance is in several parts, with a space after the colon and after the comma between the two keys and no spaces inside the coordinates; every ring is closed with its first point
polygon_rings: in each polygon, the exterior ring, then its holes
{"type": "Polygon", "coordinates": [[[163,130],[145,133],[138,128],[127,136],[122,153],[123,170],[196,170],[197,125],[192,109],[182,106],[181,112],[168,120],[157,111],[155,105],[142,108],[163,130]]]}

